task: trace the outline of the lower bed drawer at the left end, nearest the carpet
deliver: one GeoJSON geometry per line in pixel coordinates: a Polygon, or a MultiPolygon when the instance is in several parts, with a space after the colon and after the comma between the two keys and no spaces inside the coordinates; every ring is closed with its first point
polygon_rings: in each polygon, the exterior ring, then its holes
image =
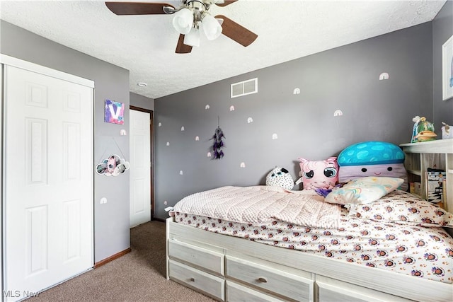
{"type": "Polygon", "coordinates": [[[168,262],[168,271],[170,279],[197,291],[202,291],[213,298],[225,300],[224,279],[173,260],[168,262]]]}

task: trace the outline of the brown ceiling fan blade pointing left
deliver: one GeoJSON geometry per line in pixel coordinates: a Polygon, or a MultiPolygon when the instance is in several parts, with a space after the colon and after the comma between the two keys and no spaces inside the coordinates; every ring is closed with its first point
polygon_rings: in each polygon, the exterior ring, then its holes
{"type": "Polygon", "coordinates": [[[174,9],[170,4],[150,2],[105,2],[105,5],[117,15],[165,15],[164,7],[174,9]]]}

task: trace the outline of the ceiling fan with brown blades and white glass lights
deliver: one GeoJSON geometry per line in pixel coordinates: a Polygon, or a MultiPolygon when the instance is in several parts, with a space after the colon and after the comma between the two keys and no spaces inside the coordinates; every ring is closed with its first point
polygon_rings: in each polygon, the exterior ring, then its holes
{"type": "Polygon", "coordinates": [[[157,2],[105,2],[116,15],[159,15],[173,14],[173,27],[180,33],[177,54],[187,54],[193,46],[200,45],[200,31],[208,40],[214,40],[223,34],[231,40],[247,47],[258,35],[232,21],[226,16],[211,16],[210,7],[227,6],[238,0],[183,0],[178,8],[171,4],[157,2]],[[201,29],[201,30],[200,30],[201,29]]]}

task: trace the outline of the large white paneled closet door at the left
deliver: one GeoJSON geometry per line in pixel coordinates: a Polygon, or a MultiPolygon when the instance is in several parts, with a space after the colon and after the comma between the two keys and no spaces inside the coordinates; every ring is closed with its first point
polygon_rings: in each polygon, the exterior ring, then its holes
{"type": "Polygon", "coordinates": [[[93,88],[5,66],[7,300],[93,267],[93,88]]]}

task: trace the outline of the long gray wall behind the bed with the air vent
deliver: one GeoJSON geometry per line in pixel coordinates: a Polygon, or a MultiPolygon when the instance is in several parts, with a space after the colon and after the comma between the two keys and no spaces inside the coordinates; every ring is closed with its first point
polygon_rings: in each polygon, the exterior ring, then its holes
{"type": "Polygon", "coordinates": [[[156,99],[155,215],[166,218],[165,203],[200,190],[263,185],[276,165],[296,180],[299,157],[337,156],[358,141],[410,141],[412,118],[433,117],[432,70],[429,22],[156,99]],[[389,79],[379,81],[383,72],[389,79]],[[230,98],[231,83],[256,77],[258,93],[230,98]],[[225,156],[212,160],[217,117],[225,156]]]}

